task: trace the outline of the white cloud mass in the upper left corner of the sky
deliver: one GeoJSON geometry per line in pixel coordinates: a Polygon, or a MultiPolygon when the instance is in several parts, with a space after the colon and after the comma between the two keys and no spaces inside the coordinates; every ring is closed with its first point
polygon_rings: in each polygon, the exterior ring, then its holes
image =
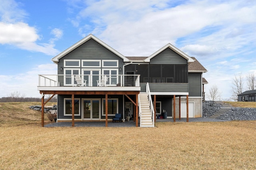
{"type": "MultiPolygon", "coordinates": [[[[14,45],[20,49],[41,52],[46,55],[57,55],[58,50],[54,49],[54,41],[51,43],[38,43],[41,36],[37,29],[22,21],[27,15],[14,0],[4,1],[0,4],[0,44],[14,45]]],[[[62,36],[60,29],[53,29],[54,40],[62,36]]]]}

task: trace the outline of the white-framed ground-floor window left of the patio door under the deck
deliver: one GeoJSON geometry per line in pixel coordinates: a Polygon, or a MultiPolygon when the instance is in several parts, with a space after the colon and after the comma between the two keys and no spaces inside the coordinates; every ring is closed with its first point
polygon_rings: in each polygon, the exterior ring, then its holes
{"type": "MultiPolygon", "coordinates": [[[[80,99],[74,99],[74,115],[80,115],[80,99]]],[[[64,98],[64,116],[72,116],[72,99],[64,98]]]]}

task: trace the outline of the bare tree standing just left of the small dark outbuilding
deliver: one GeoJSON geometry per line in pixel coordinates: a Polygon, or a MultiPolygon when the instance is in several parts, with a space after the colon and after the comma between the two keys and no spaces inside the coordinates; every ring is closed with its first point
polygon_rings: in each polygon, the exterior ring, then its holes
{"type": "Polygon", "coordinates": [[[241,94],[243,92],[243,77],[242,73],[235,75],[232,82],[232,100],[238,101],[238,94],[241,94]]]}

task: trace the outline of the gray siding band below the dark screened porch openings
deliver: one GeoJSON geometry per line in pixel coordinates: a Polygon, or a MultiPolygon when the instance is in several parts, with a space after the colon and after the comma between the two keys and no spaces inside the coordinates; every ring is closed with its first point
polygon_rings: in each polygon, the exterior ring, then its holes
{"type": "MultiPolygon", "coordinates": [[[[188,83],[149,83],[150,92],[188,92],[188,83]]],[[[140,91],[146,92],[146,83],[140,83],[140,91]]]]}

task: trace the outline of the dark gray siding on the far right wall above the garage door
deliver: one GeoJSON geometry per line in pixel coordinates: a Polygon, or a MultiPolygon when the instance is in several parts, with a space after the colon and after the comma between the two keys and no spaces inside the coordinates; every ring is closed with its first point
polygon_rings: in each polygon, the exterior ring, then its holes
{"type": "Polygon", "coordinates": [[[189,96],[202,96],[202,73],[188,73],[189,96]]]}

